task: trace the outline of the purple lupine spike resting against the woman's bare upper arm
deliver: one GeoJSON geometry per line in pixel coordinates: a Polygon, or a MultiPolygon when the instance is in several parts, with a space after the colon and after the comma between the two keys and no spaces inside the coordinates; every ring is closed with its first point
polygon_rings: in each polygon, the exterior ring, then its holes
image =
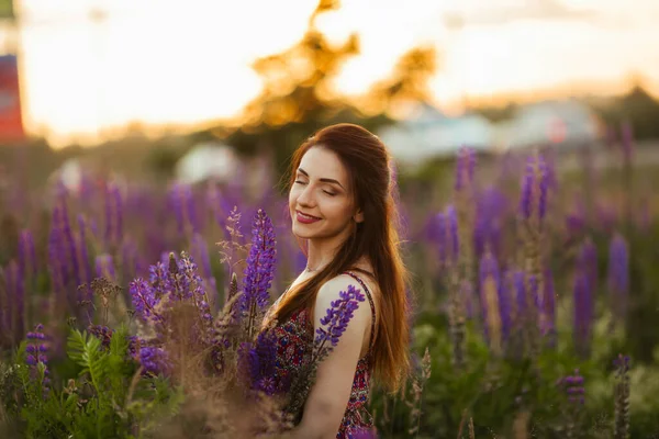
{"type": "Polygon", "coordinates": [[[340,291],[338,295],[340,299],[332,301],[327,313],[321,318],[323,327],[316,329],[313,358],[319,361],[328,354],[332,348],[338,345],[338,340],[348,327],[348,323],[353,318],[355,309],[359,306],[359,302],[366,300],[361,291],[355,289],[354,285],[348,285],[347,291],[340,291]],[[326,346],[327,342],[331,346],[326,346]]]}

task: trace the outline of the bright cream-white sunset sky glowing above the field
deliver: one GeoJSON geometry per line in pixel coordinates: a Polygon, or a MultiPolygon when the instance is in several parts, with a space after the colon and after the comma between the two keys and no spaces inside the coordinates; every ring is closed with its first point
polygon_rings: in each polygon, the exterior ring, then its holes
{"type": "MultiPolygon", "coordinates": [[[[359,93],[418,43],[435,44],[438,104],[588,85],[659,85],[657,0],[344,0],[320,27],[362,54],[336,83],[359,93]],[[456,18],[461,26],[450,26],[456,18]]],[[[16,0],[29,132],[93,143],[131,121],[197,124],[235,114],[259,90],[257,56],[303,34],[315,0],[16,0]],[[104,11],[105,19],[92,20],[104,11]]],[[[0,35],[5,45],[7,31],[0,35]]],[[[654,88],[654,91],[659,89],[654,88]]]]}

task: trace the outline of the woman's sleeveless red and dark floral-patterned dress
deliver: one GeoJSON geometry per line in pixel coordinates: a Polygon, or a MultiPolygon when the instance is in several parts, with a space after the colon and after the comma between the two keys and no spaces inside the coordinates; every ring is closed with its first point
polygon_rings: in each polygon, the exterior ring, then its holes
{"type": "MultiPolygon", "coordinates": [[[[367,412],[366,405],[368,404],[370,393],[376,307],[370,291],[364,281],[353,272],[348,271],[345,274],[350,275],[359,282],[365,295],[368,297],[372,314],[371,347],[369,347],[368,352],[357,362],[350,399],[348,401],[346,413],[336,435],[337,439],[353,438],[359,431],[373,429],[372,417],[367,412]]],[[[275,361],[276,387],[282,389],[290,385],[297,378],[298,372],[305,364],[309,364],[314,339],[314,328],[306,309],[300,309],[293,313],[287,322],[278,323],[271,330],[275,334],[277,349],[275,361]]]]}

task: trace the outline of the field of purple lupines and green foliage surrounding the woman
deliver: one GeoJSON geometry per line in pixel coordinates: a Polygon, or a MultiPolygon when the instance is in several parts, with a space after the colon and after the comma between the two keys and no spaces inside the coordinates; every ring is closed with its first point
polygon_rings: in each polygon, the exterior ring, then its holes
{"type": "MultiPolygon", "coordinates": [[[[432,182],[400,176],[415,368],[399,394],[375,391],[378,437],[659,437],[659,223],[633,196],[630,142],[605,172],[562,172],[549,149],[463,148],[432,182]]],[[[280,396],[255,336],[305,263],[273,188],[87,175],[75,190],[10,185],[2,202],[1,437],[291,424],[304,393],[280,396]]],[[[316,360],[362,300],[327,311],[316,360]]],[[[302,378],[313,369],[290,385],[302,378]]]]}

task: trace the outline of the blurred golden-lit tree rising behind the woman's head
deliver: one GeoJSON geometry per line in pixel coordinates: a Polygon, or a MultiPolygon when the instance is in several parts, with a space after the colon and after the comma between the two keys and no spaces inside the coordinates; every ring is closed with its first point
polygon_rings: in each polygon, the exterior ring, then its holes
{"type": "Polygon", "coordinates": [[[351,34],[334,45],[316,27],[324,12],[339,8],[336,0],[320,0],[309,19],[304,36],[282,53],[253,64],[264,87],[243,113],[242,124],[231,133],[226,127],[198,133],[226,138],[242,154],[273,148],[279,173],[292,150],[314,131],[337,122],[359,123],[369,130],[390,123],[387,111],[404,101],[427,101],[427,80],[436,69],[432,47],[412,48],[403,55],[390,78],[376,83],[358,100],[338,97],[332,81],[344,64],[359,54],[359,37],[351,34]]]}

